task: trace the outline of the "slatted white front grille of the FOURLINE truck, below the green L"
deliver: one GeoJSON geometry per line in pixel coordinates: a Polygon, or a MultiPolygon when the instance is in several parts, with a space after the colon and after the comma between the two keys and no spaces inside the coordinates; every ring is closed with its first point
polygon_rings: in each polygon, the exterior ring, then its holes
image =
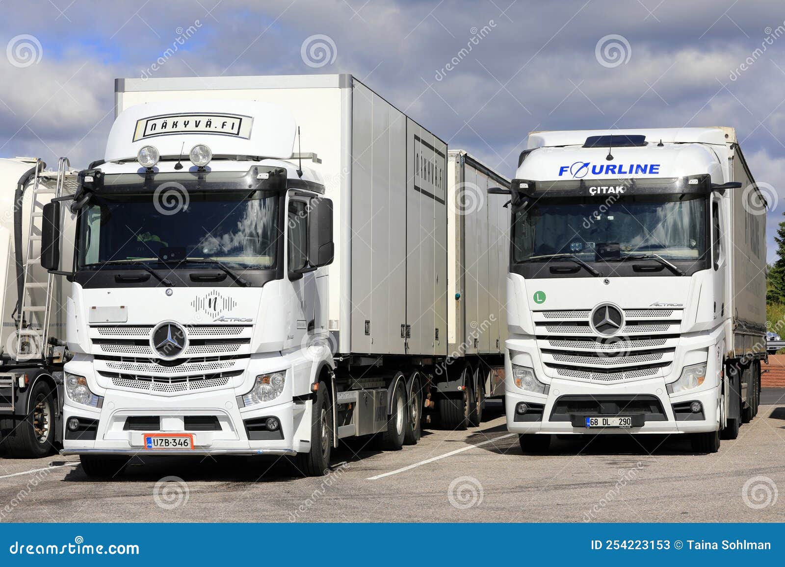
{"type": "Polygon", "coordinates": [[[604,337],[590,325],[590,309],[534,311],[535,335],[546,368],[571,380],[641,380],[670,371],[681,309],[623,309],[624,325],[604,337]]]}

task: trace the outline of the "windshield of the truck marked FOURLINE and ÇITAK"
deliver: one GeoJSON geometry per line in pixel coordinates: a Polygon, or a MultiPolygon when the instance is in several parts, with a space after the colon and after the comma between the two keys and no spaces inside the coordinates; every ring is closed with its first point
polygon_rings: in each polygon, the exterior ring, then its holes
{"type": "Polygon", "coordinates": [[[513,216],[513,263],[572,254],[585,262],[658,255],[698,260],[707,247],[703,195],[539,198],[513,216]]]}

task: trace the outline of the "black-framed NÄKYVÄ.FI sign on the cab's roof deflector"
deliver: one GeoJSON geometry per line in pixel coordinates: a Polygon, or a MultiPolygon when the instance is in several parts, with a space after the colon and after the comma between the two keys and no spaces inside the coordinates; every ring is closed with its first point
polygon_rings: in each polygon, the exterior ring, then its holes
{"type": "Polygon", "coordinates": [[[242,114],[161,114],[137,120],[133,141],[170,134],[215,134],[250,140],[254,118],[242,114]]]}

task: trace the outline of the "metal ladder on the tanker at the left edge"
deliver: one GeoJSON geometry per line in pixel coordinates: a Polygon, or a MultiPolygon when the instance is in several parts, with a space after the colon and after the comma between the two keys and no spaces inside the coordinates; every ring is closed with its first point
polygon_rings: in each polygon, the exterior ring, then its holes
{"type": "Polygon", "coordinates": [[[38,200],[42,194],[50,194],[52,198],[63,195],[65,177],[71,171],[68,158],[60,158],[57,162],[57,179],[54,187],[47,184],[49,175],[40,171],[43,162],[39,159],[35,167],[33,194],[30,204],[30,220],[27,224],[27,250],[24,256],[24,293],[20,299],[17,360],[36,360],[46,355],[46,343],[49,340],[49,318],[52,311],[53,274],[43,276],[43,268],[38,266],[41,260],[40,245],[43,226],[43,207],[45,202],[38,200]],[[33,256],[38,243],[38,256],[33,256]],[[36,269],[36,267],[38,269],[36,269]],[[41,293],[35,293],[43,291],[41,293]],[[36,301],[38,300],[38,301],[36,301]],[[37,324],[33,326],[33,322],[37,324]]]}

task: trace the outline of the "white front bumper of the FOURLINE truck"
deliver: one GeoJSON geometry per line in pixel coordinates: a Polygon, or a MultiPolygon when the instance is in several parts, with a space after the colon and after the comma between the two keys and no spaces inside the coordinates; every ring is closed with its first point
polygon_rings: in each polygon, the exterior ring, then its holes
{"type": "MultiPolygon", "coordinates": [[[[683,434],[703,433],[716,431],[719,427],[720,417],[719,388],[698,389],[670,396],[666,391],[666,384],[662,378],[652,380],[638,380],[632,383],[620,384],[593,384],[578,383],[570,380],[554,379],[550,383],[547,395],[530,394],[524,391],[506,390],[506,418],[509,431],[518,434],[683,434]],[[633,420],[633,427],[575,427],[582,420],[570,419],[564,413],[554,412],[557,407],[564,407],[566,400],[576,398],[596,399],[608,402],[619,408],[630,405],[630,400],[651,400],[654,405],[659,402],[660,411],[657,413],[636,413],[638,417],[633,420]],[[520,416],[516,419],[518,403],[525,402],[532,405],[542,405],[542,416],[531,416],[531,421],[522,421],[520,416]],[[677,419],[674,405],[700,402],[703,406],[702,414],[693,414],[684,418],[681,414],[677,419]],[[643,419],[641,420],[641,416],[643,419]],[[642,423],[642,425],[637,425],[642,423]]],[[[611,417],[619,414],[605,414],[599,412],[576,411],[580,417],[611,417]]]]}

